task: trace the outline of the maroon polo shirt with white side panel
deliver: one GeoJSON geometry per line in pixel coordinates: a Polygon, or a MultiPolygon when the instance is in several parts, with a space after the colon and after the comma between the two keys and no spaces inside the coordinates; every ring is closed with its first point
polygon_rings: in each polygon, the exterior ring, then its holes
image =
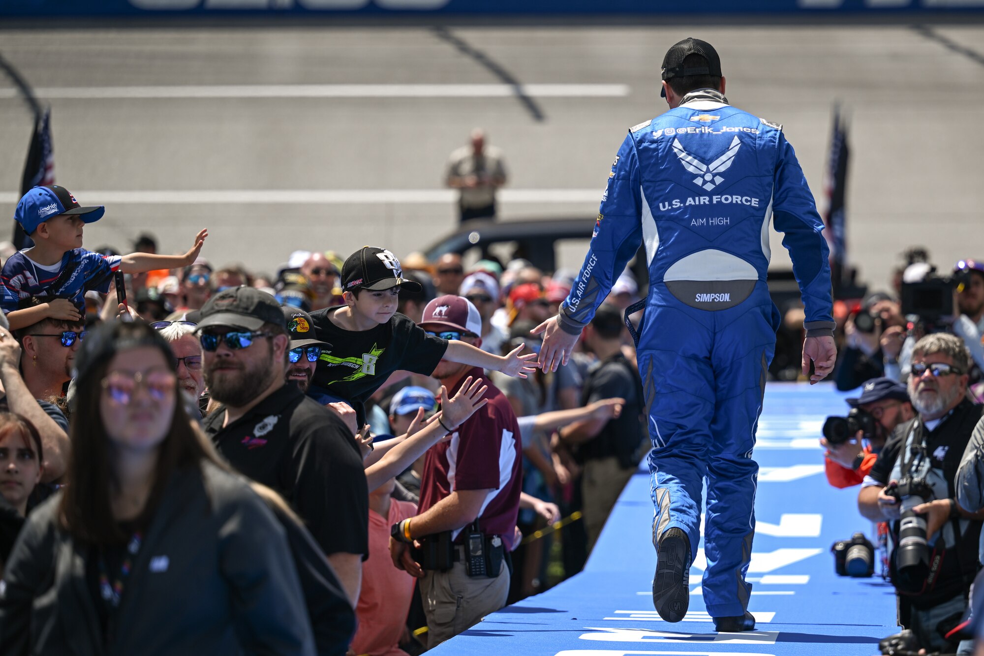
{"type": "MultiPolygon", "coordinates": [[[[502,536],[512,549],[523,490],[520,426],[509,399],[484,372],[475,367],[461,376],[462,382],[469,375],[485,379],[488,389],[482,398],[489,402],[461,424],[450,440],[427,451],[417,514],[456,490],[492,490],[478,513],[478,526],[485,535],[502,536]]],[[[457,539],[463,528],[452,537],[457,539]]]]}

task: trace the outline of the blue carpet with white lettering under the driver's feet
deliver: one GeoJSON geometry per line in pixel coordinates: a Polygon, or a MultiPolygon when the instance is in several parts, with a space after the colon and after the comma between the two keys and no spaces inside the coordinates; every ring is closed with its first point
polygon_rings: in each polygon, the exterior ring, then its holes
{"type": "Polygon", "coordinates": [[[584,572],[490,615],[431,653],[438,656],[620,656],[728,654],[869,656],[896,632],[892,586],[833,572],[830,545],[873,527],[857,511],[858,488],[835,490],[818,444],[824,418],[843,415],[832,385],[769,383],[758,432],[762,467],[749,580],[757,630],[713,632],[700,594],[704,564],[691,570],[690,611],[665,623],[652,608],[652,503],[640,471],[622,493],[584,572]]]}

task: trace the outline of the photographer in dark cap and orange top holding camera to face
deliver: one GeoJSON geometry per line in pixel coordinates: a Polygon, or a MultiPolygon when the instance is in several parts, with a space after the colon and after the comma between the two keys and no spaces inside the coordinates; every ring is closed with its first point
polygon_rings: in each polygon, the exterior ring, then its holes
{"type": "Polygon", "coordinates": [[[851,412],[827,418],[820,438],[827,448],[827,481],[834,488],[860,485],[895,426],[915,417],[905,385],[891,378],[873,378],[861,396],[845,401],[851,412]]]}

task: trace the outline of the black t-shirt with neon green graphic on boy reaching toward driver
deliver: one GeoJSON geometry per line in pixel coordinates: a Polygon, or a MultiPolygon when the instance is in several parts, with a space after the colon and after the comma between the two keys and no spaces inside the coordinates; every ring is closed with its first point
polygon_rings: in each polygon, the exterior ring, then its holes
{"type": "Polygon", "coordinates": [[[330,315],[340,307],[311,312],[319,340],[332,345],[314,374],[314,384],[351,403],[365,422],[363,404],[394,371],[404,369],[430,375],[444,358],[448,342],[428,335],[399,312],[371,330],[345,330],[330,315]]]}

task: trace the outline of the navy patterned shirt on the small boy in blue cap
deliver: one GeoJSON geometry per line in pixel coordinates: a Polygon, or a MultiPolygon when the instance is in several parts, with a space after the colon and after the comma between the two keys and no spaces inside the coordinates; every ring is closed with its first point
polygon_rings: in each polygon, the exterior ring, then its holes
{"type": "Polygon", "coordinates": [[[122,259],[74,248],[66,251],[57,265],[43,266],[31,260],[27,252],[11,255],[0,272],[0,309],[4,314],[20,309],[21,300],[31,296],[68,298],[85,314],[86,292],[109,292],[122,259]]]}

